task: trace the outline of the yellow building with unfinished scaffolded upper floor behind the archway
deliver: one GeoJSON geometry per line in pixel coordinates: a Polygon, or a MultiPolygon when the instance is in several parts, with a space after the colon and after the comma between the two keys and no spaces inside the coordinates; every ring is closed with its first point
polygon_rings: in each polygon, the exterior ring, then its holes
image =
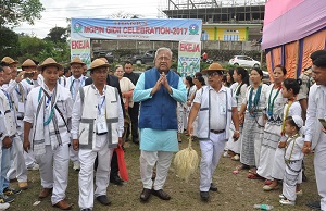
{"type": "Polygon", "coordinates": [[[265,0],[167,0],[168,18],[201,18],[202,40],[258,41],[265,0]]]}

